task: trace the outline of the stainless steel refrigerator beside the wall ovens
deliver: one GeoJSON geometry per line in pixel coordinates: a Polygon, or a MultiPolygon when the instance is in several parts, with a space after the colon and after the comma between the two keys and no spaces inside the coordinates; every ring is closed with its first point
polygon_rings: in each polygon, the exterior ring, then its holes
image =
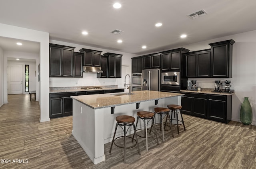
{"type": "Polygon", "coordinates": [[[142,70],[142,90],[160,91],[161,73],[160,69],[142,70]]]}

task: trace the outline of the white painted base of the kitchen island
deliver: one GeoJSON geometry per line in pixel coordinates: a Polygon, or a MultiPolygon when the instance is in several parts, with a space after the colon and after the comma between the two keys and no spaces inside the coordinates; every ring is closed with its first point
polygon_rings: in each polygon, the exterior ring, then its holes
{"type": "MultiPolygon", "coordinates": [[[[165,93],[165,92],[162,92],[165,93]]],[[[98,96],[104,94],[96,94],[98,96]]],[[[94,97],[96,96],[94,95],[94,97]]],[[[79,96],[73,98],[73,130],[72,135],[84,149],[94,164],[98,164],[105,160],[104,144],[111,142],[116,126],[116,116],[129,115],[137,118],[138,111],[154,112],[155,107],[166,107],[168,104],[180,104],[181,95],[168,98],[159,98],[157,105],[155,100],[142,101],[139,108],[138,104],[125,103],[124,105],[112,105],[114,114],[111,114],[111,107],[92,108],[85,104],[79,96]]],[[[92,95],[87,95],[92,96],[92,95]]],[[[81,97],[81,96],[80,96],[81,97]]],[[[115,96],[117,97],[117,96],[115,96]]],[[[97,97],[98,99],[99,97],[97,97]]],[[[122,97],[121,97],[122,98],[122,97]]],[[[160,121],[156,116],[156,121],[160,121]]],[[[135,124],[136,125],[136,124],[135,124]]],[[[149,125],[150,126],[150,125],[149,125]]],[[[137,128],[142,128],[143,124],[139,121],[137,128]]],[[[133,130],[128,131],[127,135],[132,134],[133,130]]],[[[116,137],[122,136],[123,131],[118,128],[116,137]]]]}

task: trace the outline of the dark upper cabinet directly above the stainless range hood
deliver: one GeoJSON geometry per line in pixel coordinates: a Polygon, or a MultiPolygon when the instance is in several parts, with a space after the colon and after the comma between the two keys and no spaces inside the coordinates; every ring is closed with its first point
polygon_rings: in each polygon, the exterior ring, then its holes
{"type": "Polygon", "coordinates": [[[84,53],[84,66],[100,67],[100,56],[102,51],[96,51],[91,49],[80,49],[81,53],[84,53]]]}

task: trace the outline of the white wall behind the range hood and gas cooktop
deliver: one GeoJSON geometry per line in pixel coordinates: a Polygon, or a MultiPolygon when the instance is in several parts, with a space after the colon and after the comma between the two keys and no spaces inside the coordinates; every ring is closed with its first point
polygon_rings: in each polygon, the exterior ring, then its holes
{"type": "MultiPolygon", "coordinates": [[[[74,43],[67,43],[62,41],[55,41],[50,40],[50,43],[58,44],[58,45],[66,45],[66,46],[72,46],[76,47],[74,49],[75,52],[79,52],[80,49],[86,48],[86,49],[93,49],[102,51],[102,55],[104,53],[110,52],[110,53],[118,53],[123,55],[122,56],[122,65],[128,65],[131,67],[132,64],[132,57],[136,57],[138,55],[133,55],[130,53],[124,53],[120,51],[113,51],[108,49],[102,49],[97,47],[90,47],[85,45],[78,45],[74,43]]],[[[131,74],[131,68],[130,68],[130,74],[131,74]]],[[[105,85],[118,85],[120,87],[123,87],[124,81],[120,78],[97,78],[96,73],[83,73],[83,78],[50,78],[50,87],[68,87],[68,86],[105,86],[105,85]]]]}

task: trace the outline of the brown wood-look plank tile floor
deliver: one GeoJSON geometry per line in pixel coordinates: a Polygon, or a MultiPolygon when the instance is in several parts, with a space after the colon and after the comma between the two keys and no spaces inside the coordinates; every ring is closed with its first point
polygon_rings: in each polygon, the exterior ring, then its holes
{"type": "Polygon", "coordinates": [[[128,149],[126,164],[123,149],[105,144],[106,161],[94,165],[71,134],[72,116],[39,123],[38,102],[29,94],[8,95],[8,104],[0,108],[0,168],[3,169],[255,169],[256,126],[238,122],[222,124],[184,115],[186,131],[180,126],[174,138],[165,131],[165,141],[157,131],[146,143],[139,139],[128,149]],[[20,159],[23,163],[13,163],[20,159]],[[10,160],[11,163],[4,163],[10,160]],[[27,161],[26,161],[27,160],[27,161]],[[27,163],[26,163],[27,162],[27,163]]]}

